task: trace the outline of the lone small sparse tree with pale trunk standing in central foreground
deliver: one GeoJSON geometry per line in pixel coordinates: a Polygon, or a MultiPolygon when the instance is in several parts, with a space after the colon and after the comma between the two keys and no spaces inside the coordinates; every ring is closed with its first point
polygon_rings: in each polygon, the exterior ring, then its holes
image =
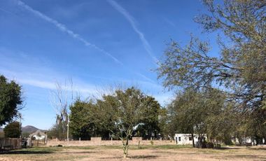
{"type": "Polygon", "coordinates": [[[116,90],[97,100],[97,120],[123,142],[124,158],[127,158],[128,141],[134,127],[145,118],[146,96],[135,87],[116,90]]]}

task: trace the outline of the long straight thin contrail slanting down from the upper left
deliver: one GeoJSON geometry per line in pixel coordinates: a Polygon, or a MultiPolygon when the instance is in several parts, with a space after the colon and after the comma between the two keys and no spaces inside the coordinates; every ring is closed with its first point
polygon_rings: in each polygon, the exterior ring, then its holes
{"type": "Polygon", "coordinates": [[[102,48],[99,48],[97,45],[94,45],[94,44],[86,41],[79,34],[74,33],[73,31],[68,29],[65,25],[57,22],[57,20],[54,20],[54,19],[48,17],[47,15],[39,12],[38,10],[34,10],[33,8],[31,8],[30,6],[28,6],[27,4],[25,4],[24,2],[22,2],[20,0],[18,0],[18,5],[22,6],[23,8],[25,8],[29,12],[33,13],[34,15],[38,16],[39,18],[42,18],[43,20],[50,22],[52,25],[55,25],[55,27],[57,27],[57,29],[59,29],[60,31],[66,32],[66,34],[69,34],[69,36],[76,38],[76,40],[78,40],[78,41],[81,41],[82,43],[84,43],[84,45],[91,46],[92,48],[99,50],[100,52],[104,53],[105,55],[111,57],[116,63],[123,65],[122,62],[120,62],[118,59],[116,59],[116,57],[113,57],[113,55],[111,55],[109,52],[107,52],[106,50],[104,50],[102,48]]]}

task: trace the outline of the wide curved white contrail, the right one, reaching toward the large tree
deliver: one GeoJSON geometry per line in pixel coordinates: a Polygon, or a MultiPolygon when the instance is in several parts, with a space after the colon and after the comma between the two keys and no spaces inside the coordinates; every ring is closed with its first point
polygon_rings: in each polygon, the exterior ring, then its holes
{"type": "Polygon", "coordinates": [[[124,15],[124,17],[127,19],[128,22],[130,22],[130,25],[132,26],[134,31],[139,35],[142,45],[144,45],[146,52],[148,52],[148,55],[151,56],[153,61],[155,63],[159,62],[158,59],[153,55],[153,52],[151,50],[151,45],[146,40],[144,34],[138,29],[136,22],[134,22],[134,18],[132,17],[132,15],[130,15],[130,13],[128,13],[127,10],[125,10],[123,6],[120,6],[120,4],[118,4],[116,1],[113,1],[113,0],[107,0],[107,1],[111,4],[111,6],[113,6],[113,8],[115,8],[116,10],[118,10],[118,12],[124,15]]]}

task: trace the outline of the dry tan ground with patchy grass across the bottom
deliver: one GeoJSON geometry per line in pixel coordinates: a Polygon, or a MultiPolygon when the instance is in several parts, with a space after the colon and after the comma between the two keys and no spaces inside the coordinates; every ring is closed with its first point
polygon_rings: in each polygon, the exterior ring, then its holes
{"type": "MultiPolygon", "coordinates": [[[[124,160],[120,146],[43,147],[1,153],[0,160],[124,160]]],[[[174,146],[132,146],[125,160],[266,160],[266,147],[220,150],[174,146]]]]}

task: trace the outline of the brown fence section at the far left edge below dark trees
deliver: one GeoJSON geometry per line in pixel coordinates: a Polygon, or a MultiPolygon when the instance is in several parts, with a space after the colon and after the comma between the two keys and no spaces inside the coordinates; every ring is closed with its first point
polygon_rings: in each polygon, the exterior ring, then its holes
{"type": "Polygon", "coordinates": [[[13,139],[13,138],[1,138],[0,139],[0,149],[1,150],[13,150],[20,149],[21,147],[21,139],[13,139]]]}

